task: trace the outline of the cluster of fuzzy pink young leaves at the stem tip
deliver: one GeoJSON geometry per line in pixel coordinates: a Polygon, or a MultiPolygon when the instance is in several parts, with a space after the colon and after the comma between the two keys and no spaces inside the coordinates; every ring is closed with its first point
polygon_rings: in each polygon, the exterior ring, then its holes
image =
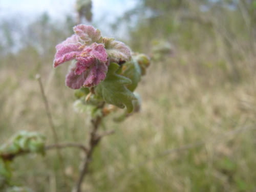
{"type": "Polygon", "coordinates": [[[67,86],[71,89],[96,86],[104,80],[109,65],[104,45],[95,42],[102,40],[100,32],[85,25],[74,27],[74,31],[75,35],[56,46],[53,67],[75,59],[75,66],[66,76],[67,86]]]}

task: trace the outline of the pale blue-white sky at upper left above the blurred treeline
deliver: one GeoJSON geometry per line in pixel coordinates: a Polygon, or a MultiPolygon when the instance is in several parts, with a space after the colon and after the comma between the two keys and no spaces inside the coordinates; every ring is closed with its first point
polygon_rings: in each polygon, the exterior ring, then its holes
{"type": "MultiPolygon", "coordinates": [[[[93,24],[100,29],[101,34],[114,38],[123,37],[124,32],[120,29],[113,34],[109,23],[114,23],[115,18],[121,16],[123,12],[134,8],[138,0],[92,0],[93,24]],[[99,25],[98,25],[99,24],[99,25]]],[[[76,0],[0,0],[0,25],[2,21],[8,20],[8,24],[13,24],[12,28],[19,30],[33,23],[43,13],[48,13],[51,20],[64,20],[67,15],[76,17],[76,0]]],[[[12,38],[16,39],[14,51],[18,50],[20,35],[18,32],[12,33],[12,38]]],[[[4,35],[0,28],[0,38],[4,35]]],[[[20,45],[20,46],[19,46],[20,45]]]]}

